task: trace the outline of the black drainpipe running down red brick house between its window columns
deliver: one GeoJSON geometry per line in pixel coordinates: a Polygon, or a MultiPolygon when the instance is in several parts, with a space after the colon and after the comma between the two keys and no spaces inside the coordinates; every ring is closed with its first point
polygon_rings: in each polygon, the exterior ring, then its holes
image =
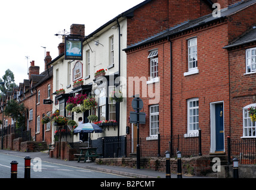
{"type": "Polygon", "coordinates": [[[171,80],[170,80],[170,106],[171,106],[171,141],[170,141],[170,147],[171,147],[171,155],[173,153],[172,151],[172,42],[171,40],[169,39],[169,36],[168,36],[168,41],[170,43],[170,76],[171,76],[171,80]]]}

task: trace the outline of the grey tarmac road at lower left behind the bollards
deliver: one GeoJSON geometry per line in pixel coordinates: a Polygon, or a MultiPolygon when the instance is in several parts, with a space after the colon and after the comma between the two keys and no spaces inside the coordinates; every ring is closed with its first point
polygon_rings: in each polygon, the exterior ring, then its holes
{"type": "MultiPolygon", "coordinates": [[[[24,178],[24,157],[0,153],[0,178],[11,178],[11,162],[18,162],[17,178],[24,178]]],[[[120,175],[97,172],[80,167],[31,159],[30,178],[125,178],[120,175]]]]}

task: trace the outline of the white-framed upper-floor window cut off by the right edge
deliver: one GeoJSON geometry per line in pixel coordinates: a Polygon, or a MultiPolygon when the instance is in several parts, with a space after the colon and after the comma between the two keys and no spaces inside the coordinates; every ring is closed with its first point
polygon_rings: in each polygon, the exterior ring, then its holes
{"type": "Polygon", "coordinates": [[[245,72],[251,74],[256,72],[256,47],[245,50],[245,72]]]}

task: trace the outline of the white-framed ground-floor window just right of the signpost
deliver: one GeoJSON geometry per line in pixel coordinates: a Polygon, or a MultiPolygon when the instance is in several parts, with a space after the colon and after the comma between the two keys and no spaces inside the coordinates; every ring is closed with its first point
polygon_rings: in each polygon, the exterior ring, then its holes
{"type": "Polygon", "coordinates": [[[159,105],[149,106],[149,134],[156,137],[159,133],[159,105]],[[157,110],[155,110],[155,108],[157,110]],[[153,110],[153,112],[152,112],[153,110]]]}

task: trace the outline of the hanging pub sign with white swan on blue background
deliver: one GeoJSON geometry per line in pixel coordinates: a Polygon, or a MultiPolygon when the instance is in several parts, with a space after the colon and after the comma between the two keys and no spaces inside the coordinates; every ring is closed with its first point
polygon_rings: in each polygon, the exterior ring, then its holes
{"type": "Polygon", "coordinates": [[[82,60],[82,39],[72,36],[65,37],[65,59],[82,60]]]}

